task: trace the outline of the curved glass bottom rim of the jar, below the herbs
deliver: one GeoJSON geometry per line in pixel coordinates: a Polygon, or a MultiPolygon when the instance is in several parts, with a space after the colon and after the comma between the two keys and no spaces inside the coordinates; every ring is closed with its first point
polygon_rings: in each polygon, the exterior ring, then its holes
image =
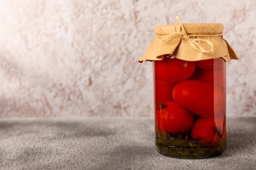
{"type": "MultiPolygon", "coordinates": [[[[158,153],[160,153],[163,156],[168,156],[171,158],[176,158],[176,159],[206,159],[206,158],[212,158],[212,157],[216,157],[216,156],[220,156],[223,152],[223,150],[220,151],[216,151],[215,153],[212,153],[211,155],[206,155],[206,156],[177,156],[177,155],[172,155],[171,153],[166,153],[160,149],[158,149],[157,145],[155,145],[155,148],[157,150],[158,153]]],[[[188,149],[189,150],[189,149],[188,149]]]]}

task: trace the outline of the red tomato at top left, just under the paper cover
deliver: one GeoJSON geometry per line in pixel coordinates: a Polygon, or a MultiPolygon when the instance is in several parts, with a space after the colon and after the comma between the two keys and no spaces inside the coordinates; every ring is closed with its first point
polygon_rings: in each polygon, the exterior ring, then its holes
{"type": "Polygon", "coordinates": [[[167,82],[188,79],[195,70],[195,62],[177,58],[165,58],[154,62],[155,78],[167,82]]]}

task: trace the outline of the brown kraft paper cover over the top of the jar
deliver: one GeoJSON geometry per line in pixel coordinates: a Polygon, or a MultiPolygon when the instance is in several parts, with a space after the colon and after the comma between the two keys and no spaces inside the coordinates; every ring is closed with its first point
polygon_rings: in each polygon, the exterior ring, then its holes
{"type": "MultiPolygon", "coordinates": [[[[183,30],[181,24],[160,25],[154,30],[156,39],[153,40],[145,54],[139,62],[162,60],[163,55],[169,54],[177,59],[186,61],[199,61],[204,59],[215,59],[222,57],[226,62],[230,59],[239,59],[233,51],[229,43],[223,39],[222,33],[224,26],[221,23],[183,23],[183,30]],[[194,48],[189,41],[181,34],[187,34],[190,40],[207,40],[212,43],[213,48],[211,52],[203,53],[194,48]],[[177,34],[167,39],[169,34],[177,34]]],[[[209,50],[210,46],[204,41],[196,42],[201,48],[209,50]]]]}

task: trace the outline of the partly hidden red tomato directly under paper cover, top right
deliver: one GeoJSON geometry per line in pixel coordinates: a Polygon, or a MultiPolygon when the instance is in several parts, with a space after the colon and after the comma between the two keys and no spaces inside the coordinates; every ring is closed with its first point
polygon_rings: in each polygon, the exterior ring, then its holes
{"type": "Polygon", "coordinates": [[[226,62],[222,58],[216,58],[216,59],[205,59],[205,60],[196,61],[195,64],[196,66],[204,70],[212,70],[212,69],[224,68],[224,65],[226,64],[226,62]]]}

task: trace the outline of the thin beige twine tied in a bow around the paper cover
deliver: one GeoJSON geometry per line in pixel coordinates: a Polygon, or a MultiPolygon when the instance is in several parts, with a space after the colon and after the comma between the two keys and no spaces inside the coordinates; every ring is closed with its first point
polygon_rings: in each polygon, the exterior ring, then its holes
{"type": "Polygon", "coordinates": [[[197,51],[202,52],[202,53],[210,53],[213,51],[214,45],[211,41],[209,40],[203,40],[203,39],[198,39],[196,37],[217,37],[217,36],[222,36],[222,34],[212,34],[212,35],[199,35],[199,34],[195,34],[195,35],[188,35],[186,33],[186,30],[183,26],[183,24],[180,21],[180,18],[178,16],[175,17],[176,20],[179,21],[180,26],[181,26],[181,32],[175,32],[175,33],[171,33],[171,34],[167,34],[167,35],[157,35],[157,38],[161,38],[163,40],[168,40],[168,39],[172,39],[172,38],[177,38],[177,37],[181,37],[185,40],[187,40],[189,42],[189,44],[195,48],[197,51]],[[209,45],[210,49],[209,50],[205,50],[200,44],[199,42],[205,42],[207,45],[209,45]]]}

